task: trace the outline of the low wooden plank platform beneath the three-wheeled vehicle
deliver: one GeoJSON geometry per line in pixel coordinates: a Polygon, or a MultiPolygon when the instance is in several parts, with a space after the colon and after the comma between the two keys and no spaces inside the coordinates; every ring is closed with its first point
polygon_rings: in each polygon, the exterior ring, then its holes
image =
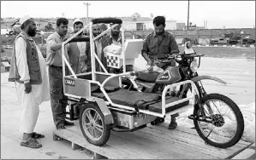
{"type": "Polygon", "coordinates": [[[169,130],[168,123],[137,130],[136,132],[111,131],[110,140],[104,146],[94,146],[80,132],[78,121],[74,126],[53,132],[55,140],[71,142],[72,149],[86,148],[94,152],[94,158],[109,159],[231,159],[251,143],[240,140],[235,146],[220,149],[205,145],[195,129],[177,127],[169,130]]]}

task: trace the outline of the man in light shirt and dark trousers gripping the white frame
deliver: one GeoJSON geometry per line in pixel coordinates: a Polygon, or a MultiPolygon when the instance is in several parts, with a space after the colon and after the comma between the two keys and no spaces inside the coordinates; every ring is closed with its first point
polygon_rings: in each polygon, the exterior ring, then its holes
{"type": "MultiPolygon", "coordinates": [[[[63,94],[63,67],[68,75],[68,67],[63,66],[62,43],[66,40],[68,32],[68,20],[66,18],[57,19],[57,31],[52,33],[46,40],[46,64],[49,65],[49,82],[51,94],[51,110],[53,121],[57,129],[65,129],[65,125],[74,125],[65,120],[68,97],[63,94]]],[[[67,46],[66,46],[67,47],[67,46]]],[[[65,58],[68,58],[68,49],[65,49],[65,58]]]]}

